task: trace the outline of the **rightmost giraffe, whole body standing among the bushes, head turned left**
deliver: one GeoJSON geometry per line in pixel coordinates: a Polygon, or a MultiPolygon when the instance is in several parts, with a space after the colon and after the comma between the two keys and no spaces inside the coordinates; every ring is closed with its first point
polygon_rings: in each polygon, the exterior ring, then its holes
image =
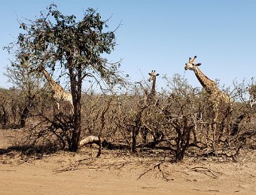
{"type": "Polygon", "coordinates": [[[218,89],[217,83],[210,80],[208,77],[206,77],[205,74],[203,74],[202,71],[198,68],[201,63],[196,63],[197,55],[194,56],[193,59],[189,58],[188,63],[185,64],[184,69],[194,71],[194,74],[197,77],[197,80],[199,80],[200,84],[203,86],[203,89],[206,90],[206,92],[209,94],[209,101],[213,104],[213,111],[214,111],[214,118],[213,118],[213,130],[216,133],[217,132],[217,120],[218,116],[220,114],[221,107],[225,104],[228,107],[228,115],[227,115],[227,133],[230,133],[230,111],[232,110],[233,106],[233,99],[230,98],[226,93],[221,92],[220,89],[218,89]]]}

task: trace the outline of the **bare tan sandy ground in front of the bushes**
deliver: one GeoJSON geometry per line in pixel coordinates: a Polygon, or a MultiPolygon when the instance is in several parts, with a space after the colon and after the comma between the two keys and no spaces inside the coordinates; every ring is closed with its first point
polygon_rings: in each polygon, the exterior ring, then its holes
{"type": "Polygon", "coordinates": [[[89,147],[26,157],[3,152],[12,138],[0,130],[0,194],[256,194],[256,151],[242,151],[237,162],[169,163],[108,150],[96,158],[89,147]]]}

